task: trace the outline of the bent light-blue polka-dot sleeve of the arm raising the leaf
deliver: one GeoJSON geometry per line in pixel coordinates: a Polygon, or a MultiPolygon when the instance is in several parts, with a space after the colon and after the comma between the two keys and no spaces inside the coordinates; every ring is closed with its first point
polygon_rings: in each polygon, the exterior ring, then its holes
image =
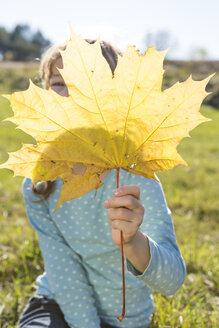
{"type": "Polygon", "coordinates": [[[183,284],[186,269],[161,184],[135,175],[131,182],[141,189],[145,215],[140,231],[148,237],[151,259],[142,274],[128,259],[127,269],[153,290],[163,295],[173,295],[183,284]]]}

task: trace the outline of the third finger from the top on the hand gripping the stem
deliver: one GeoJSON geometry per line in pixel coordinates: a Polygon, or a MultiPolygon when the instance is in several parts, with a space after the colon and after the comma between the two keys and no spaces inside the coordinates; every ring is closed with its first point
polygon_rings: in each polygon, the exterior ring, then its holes
{"type": "Polygon", "coordinates": [[[126,208],[110,208],[108,211],[108,219],[110,222],[121,220],[126,222],[136,222],[137,226],[142,223],[142,216],[136,212],[126,208]]]}

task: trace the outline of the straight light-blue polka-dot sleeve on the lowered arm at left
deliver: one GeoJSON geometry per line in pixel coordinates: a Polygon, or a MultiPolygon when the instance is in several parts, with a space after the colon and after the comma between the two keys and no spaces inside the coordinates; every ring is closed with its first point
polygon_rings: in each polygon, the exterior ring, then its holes
{"type": "Polygon", "coordinates": [[[44,258],[46,278],[53,298],[59,304],[70,327],[99,327],[93,289],[74,252],[52,220],[47,201],[31,191],[31,180],[25,179],[23,195],[30,224],[37,232],[44,258]]]}

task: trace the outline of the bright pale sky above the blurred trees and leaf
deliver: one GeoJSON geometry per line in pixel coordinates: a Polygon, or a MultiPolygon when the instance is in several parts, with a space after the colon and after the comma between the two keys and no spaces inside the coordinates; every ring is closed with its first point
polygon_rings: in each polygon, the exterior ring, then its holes
{"type": "Polygon", "coordinates": [[[54,43],[69,38],[70,23],[83,37],[112,42],[121,50],[145,50],[145,36],[167,31],[169,57],[189,59],[206,49],[219,60],[218,0],[1,0],[0,25],[28,23],[54,43]]]}

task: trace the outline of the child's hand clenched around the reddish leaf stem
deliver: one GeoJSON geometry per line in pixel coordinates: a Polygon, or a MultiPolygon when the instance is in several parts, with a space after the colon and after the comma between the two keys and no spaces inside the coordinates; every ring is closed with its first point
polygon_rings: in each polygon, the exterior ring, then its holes
{"type": "Polygon", "coordinates": [[[118,188],[114,191],[114,197],[104,202],[104,207],[108,208],[113,242],[120,246],[122,231],[124,244],[131,243],[144,216],[139,187],[130,185],[118,188]]]}

